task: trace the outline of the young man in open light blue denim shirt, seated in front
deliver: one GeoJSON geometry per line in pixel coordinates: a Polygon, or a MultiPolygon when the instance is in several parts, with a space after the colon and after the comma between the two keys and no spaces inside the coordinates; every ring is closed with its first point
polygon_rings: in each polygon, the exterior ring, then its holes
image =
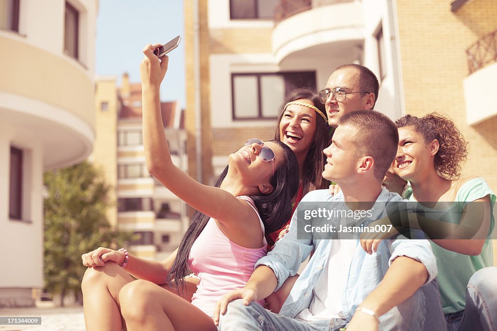
{"type": "MultiPolygon", "coordinates": [[[[354,211],[371,211],[368,222],[383,218],[387,202],[401,201],[382,188],[383,176],[397,153],[397,129],[375,111],[351,112],[338,123],[324,151],[323,177],[336,182],[342,191],[336,196],[328,190],[313,191],[301,203],[343,201],[354,211]]],[[[438,289],[431,282],[437,270],[426,240],[384,240],[375,252],[366,252],[357,239],[319,239],[314,232],[302,238],[297,235],[302,233],[297,214],[289,233],[259,260],[247,285],[227,294],[216,306],[214,320],[220,322],[220,330],[307,331],[345,326],[347,331],[427,330],[424,293],[438,289]],[[252,302],[278,290],[313,250],[280,315],[252,302]],[[420,291],[426,284],[433,289],[420,291]]],[[[443,319],[441,309],[436,318],[443,319]]]]}

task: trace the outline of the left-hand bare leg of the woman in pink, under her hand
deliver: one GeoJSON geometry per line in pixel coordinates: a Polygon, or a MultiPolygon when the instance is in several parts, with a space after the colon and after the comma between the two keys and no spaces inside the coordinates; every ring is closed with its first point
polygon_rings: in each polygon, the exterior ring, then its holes
{"type": "Polygon", "coordinates": [[[131,281],[133,277],[113,262],[86,269],[81,288],[87,331],[122,330],[118,294],[121,288],[131,281]]]}

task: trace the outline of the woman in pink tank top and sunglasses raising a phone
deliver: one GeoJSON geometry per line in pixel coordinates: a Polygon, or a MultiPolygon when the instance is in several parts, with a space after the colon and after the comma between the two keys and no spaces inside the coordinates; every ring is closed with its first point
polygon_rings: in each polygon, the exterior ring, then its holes
{"type": "Polygon", "coordinates": [[[197,211],[179,248],[163,262],[139,259],[124,249],[99,248],[83,254],[83,265],[90,267],[82,284],[87,330],[121,330],[123,322],[130,331],[216,330],[214,304],[245,285],[255,263],[266,254],[264,234],[279,229],[290,217],[297,192],[297,160],[278,141],[248,139],[229,156],[214,187],[175,167],[159,100],[168,58],[160,62],[154,49],[144,49],[140,66],[147,168],[197,211]],[[180,296],[185,294],[189,270],[200,278],[191,302],[180,296]]]}

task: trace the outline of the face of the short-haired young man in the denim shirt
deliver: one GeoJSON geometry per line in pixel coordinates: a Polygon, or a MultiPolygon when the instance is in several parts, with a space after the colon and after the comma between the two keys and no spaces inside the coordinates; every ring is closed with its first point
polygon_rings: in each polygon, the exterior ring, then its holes
{"type": "Polygon", "coordinates": [[[342,185],[342,181],[351,179],[357,173],[359,156],[354,143],[357,133],[358,130],[349,125],[341,125],[333,132],[331,145],[323,151],[326,155],[324,178],[342,185]]]}

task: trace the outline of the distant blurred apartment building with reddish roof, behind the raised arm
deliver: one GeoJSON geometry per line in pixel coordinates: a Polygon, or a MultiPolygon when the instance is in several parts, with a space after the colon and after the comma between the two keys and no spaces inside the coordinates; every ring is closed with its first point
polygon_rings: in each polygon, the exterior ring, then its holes
{"type": "MultiPolygon", "coordinates": [[[[96,139],[93,161],[102,167],[114,189],[109,208],[111,224],[133,232],[128,250],[141,258],[165,259],[179,246],[189,221],[186,204],[147,171],[142,138],[142,90],[122,76],[99,77],[96,83],[96,139]]],[[[187,171],[186,133],[178,101],[161,103],[164,130],[173,163],[187,171]]]]}

